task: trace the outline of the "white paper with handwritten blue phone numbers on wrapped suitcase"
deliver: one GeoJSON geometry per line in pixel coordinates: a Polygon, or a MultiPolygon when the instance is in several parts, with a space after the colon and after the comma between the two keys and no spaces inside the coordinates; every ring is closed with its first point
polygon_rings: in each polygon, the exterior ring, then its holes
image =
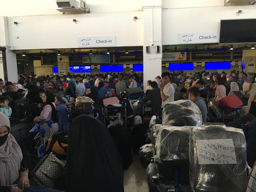
{"type": "Polygon", "coordinates": [[[196,140],[199,164],[236,164],[233,139],[196,140]]]}

